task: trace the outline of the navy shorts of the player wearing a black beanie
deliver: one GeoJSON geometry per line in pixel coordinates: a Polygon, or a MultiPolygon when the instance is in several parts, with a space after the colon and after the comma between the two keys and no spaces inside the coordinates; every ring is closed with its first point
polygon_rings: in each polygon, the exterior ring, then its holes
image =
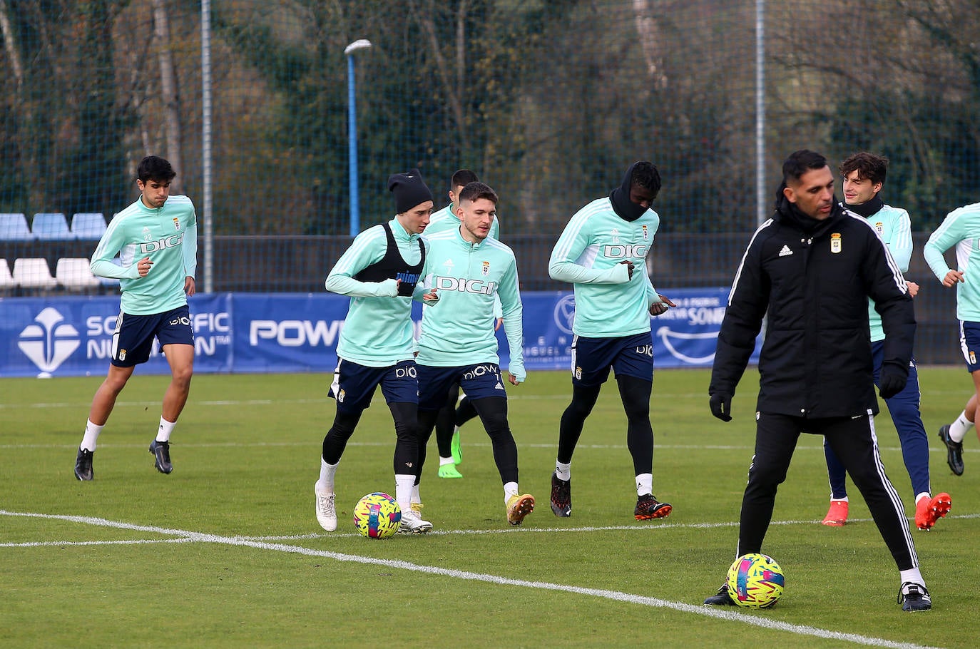
{"type": "Polygon", "coordinates": [[[328,394],[337,400],[337,410],[367,410],[378,385],[381,386],[385,403],[417,403],[416,362],[402,361],[386,368],[368,368],[339,359],[328,394]]]}

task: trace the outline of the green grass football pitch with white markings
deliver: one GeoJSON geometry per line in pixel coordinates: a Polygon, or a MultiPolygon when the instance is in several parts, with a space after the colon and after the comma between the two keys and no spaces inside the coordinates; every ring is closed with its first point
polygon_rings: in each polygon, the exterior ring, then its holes
{"type": "MultiPolygon", "coordinates": [[[[478,422],[463,428],[463,479],[421,485],[427,535],[370,540],[351,511],[393,492],[394,432],[375,396],[337,473],[340,524],[314,514],[328,374],[194,377],[172,437],[174,471],[148,452],[169,380],[135,374],[95,453],[72,470],[101,377],[0,379],[0,646],[48,647],[974,647],[980,613],[980,444],[953,475],[936,436],[970,390],[960,368],[922,368],[933,493],[953,511],[913,530],[933,610],[896,603],[898,573],[857,489],[851,520],[828,503],[822,438],[804,435],[763,552],[786,574],[766,611],[701,604],[734,559],[754,439],[746,374],[734,421],[711,418],[707,371],[658,371],[651,402],[654,493],[668,519],[633,519],[636,493],[614,383],[572,464],[572,515],[549,507],[565,373],[508,386],[520,488],[538,501],[507,524],[500,477],[478,422]]],[[[907,514],[911,488],[887,413],[882,457],[907,514]]]]}

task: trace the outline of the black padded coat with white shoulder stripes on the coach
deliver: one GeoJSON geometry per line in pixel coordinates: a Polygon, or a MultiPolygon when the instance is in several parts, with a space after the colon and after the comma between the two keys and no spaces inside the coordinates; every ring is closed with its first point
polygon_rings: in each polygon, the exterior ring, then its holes
{"type": "Polygon", "coordinates": [[[735,394],[767,314],[758,411],[804,418],[877,414],[869,297],[885,329],[883,365],[907,369],[912,300],[877,232],[836,200],[831,216],[817,221],[782,198],[735,275],[710,394],[735,394]]]}

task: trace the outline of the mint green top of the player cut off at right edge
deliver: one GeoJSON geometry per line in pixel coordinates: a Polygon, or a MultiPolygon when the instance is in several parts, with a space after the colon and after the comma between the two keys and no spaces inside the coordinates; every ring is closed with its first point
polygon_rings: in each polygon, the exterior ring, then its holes
{"type": "Polygon", "coordinates": [[[946,219],[925,243],[923,255],[940,281],[952,271],[943,253],[956,246],[956,266],[963,281],[956,283],[956,318],[980,323],[980,203],[964,205],[946,219]]]}

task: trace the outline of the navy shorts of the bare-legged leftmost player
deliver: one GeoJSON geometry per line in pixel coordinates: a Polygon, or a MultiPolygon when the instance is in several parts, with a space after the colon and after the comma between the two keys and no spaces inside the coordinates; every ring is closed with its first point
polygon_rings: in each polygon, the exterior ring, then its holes
{"type": "Polygon", "coordinates": [[[154,336],[160,343],[161,351],[164,345],[193,346],[194,329],[190,324],[187,305],[151,316],[120,313],[113,332],[112,364],[117,368],[131,368],[146,363],[153,350],[154,336]]]}

